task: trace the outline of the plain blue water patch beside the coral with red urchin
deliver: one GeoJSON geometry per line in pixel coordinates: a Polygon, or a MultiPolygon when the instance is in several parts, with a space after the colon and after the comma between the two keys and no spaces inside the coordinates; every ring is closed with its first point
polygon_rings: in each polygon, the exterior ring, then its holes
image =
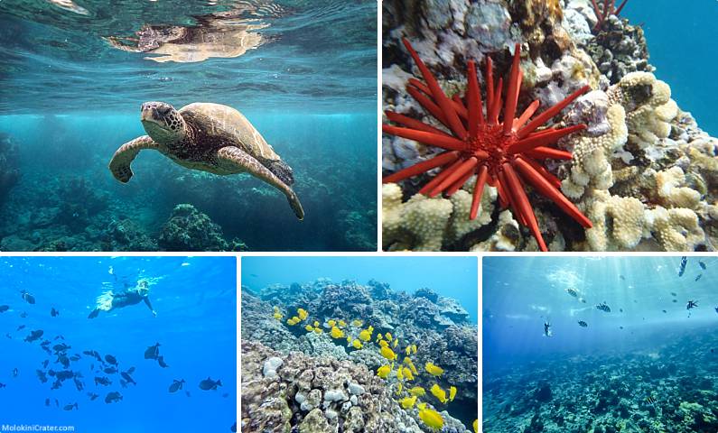
{"type": "Polygon", "coordinates": [[[713,69],[718,60],[713,23],[718,20],[718,2],[629,0],[621,16],[643,24],[649,62],[657,68],[657,78],[670,85],[678,106],[691,112],[704,131],[717,135],[718,119],[713,112],[718,104],[718,82],[713,69]]]}

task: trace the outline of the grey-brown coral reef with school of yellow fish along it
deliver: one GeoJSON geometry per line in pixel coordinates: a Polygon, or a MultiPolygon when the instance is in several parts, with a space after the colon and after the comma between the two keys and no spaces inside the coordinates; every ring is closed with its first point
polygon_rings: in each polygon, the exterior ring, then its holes
{"type": "Polygon", "coordinates": [[[329,280],[244,287],[241,335],[242,431],[436,431],[421,418],[422,401],[441,414],[440,431],[468,433],[476,419],[478,331],[455,299],[433,290],[329,280]],[[443,373],[426,373],[426,363],[443,373]],[[411,382],[402,373],[410,368],[411,382]],[[432,396],[434,384],[455,387],[452,401],[432,396]],[[425,396],[409,405],[419,387],[425,396]]]}

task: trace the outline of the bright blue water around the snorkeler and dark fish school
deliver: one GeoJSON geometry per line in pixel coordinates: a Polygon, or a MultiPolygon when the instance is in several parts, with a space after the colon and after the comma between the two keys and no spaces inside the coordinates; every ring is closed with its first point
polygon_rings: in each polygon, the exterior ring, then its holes
{"type": "MultiPolygon", "coordinates": [[[[5,257],[0,305],[0,424],[74,426],[77,432],[229,431],[236,419],[236,259],[233,257],[5,257]],[[101,313],[89,319],[95,298],[103,290],[122,291],[138,280],[150,282],[153,317],[144,304],[101,313]],[[31,305],[20,290],[33,294],[31,305]],[[59,316],[51,317],[51,309],[59,316]],[[26,313],[26,317],[21,315],[26,313]],[[20,326],[25,326],[17,330],[20,326]],[[32,330],[42,338],[24,342],[32,330]],[[64,339],[55,339],[63,336],[64,339]],[[49,347],[70,345],[67,356],[79,354],[69,369],[81,374],[84,390],[72,380],[51,390],[35,371],[62,371],[49,347]],[[160,343],[160,355],[169,365],[145,359],[145,349],[160,343]],[[83,351],[113,355],[120,371],[135,367],[136,385],[120,385],[117,373],[96,373],[99,362],[83,351]],[[47,368],[42,362],[49,360],[47,368]],[[94,365],[95,370],[90,367],[94,365]],[[13,377],[14,369],[17,377],[13,377]],[[113,383],[96,385],[106,376],[113,383]],[[210,376],[222,386],[202,391],[200,381],[210,376]],[[180,392],[170,393],[173,380],[185,380],[180,392]],[[189,392],[189,395],[185,394],[189,392]],[[90,401],[88,392],[98,394],[90,401]],[[108,392],[123,400],[106,404],[108,392]],[[50,406],[45,405],[50,399],[50,406]],[[60,407],[56,407],[57,399],[60,407]],[[63,410],[78,403],[77,410],[63,410]]],[[[51,349],[53,350],[53,349],[51,349]]],[[[109,367],[109,364],[102,368],[109,367]]],[[[19,431],[19,430],[18,430],[19,431]]]]}

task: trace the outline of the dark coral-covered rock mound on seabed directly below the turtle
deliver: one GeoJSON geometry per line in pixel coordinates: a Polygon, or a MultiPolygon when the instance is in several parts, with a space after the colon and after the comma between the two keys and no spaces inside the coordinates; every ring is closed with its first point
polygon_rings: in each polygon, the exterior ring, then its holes
{"type": "Polygon", "coordinates": [[[163,251],[244,251],[240,241],[228,243],[207,214],[189,204],[177,205],[164,223],[157,244],[163,251]]]}

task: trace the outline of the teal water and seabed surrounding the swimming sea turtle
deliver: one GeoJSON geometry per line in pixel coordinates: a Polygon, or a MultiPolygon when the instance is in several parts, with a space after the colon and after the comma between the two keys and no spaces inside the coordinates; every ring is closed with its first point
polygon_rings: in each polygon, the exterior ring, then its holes
{"type": "Polygon", "coordinates": [[[0,249],[376,250],[375,1],[61,3],[0,2],[0,249]],[[254,177],[152,151],[120,184],[107,163],[152,100],[237,108],[293,168],[305,219],[254,177]],[[162,240],[179,204],[208,239],[162,240]]]}

